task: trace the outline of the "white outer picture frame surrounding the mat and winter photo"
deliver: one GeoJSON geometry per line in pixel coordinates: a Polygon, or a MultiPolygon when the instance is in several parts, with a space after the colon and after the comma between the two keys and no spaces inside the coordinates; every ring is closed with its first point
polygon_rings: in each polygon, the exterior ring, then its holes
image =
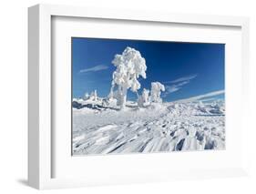
{"type": "MultiPolygon", "coordinates": [[[[146,13],[132,10],[110,10],[100,8],[77,7],[67,5],[35,5],[28,9],[28,183],[36,189],[55,189],[55,188],[69,188],[69,187],[83,187],[90,185],[103,185],[103,184],[126,184],[131,182],[150,182],[150,181],[166,181],[171,179],[195,179],[195,178],[212,178],[212,177],[230,177],[241,176],[247,174],[247,148],[246,148],[246,120],[249,119],[247,111],[247,102],[249,97],[249,90],[247,83],[249,82],[249,19],[247,17],[233,17],[233,16],[217,16],[217,15],[183,15],[183,14],[170,14],[170,13],[146,13]],[[57,17],[72,17],[72,18],[90,18],[92,22],[94,19],[108,19],[112,20],[129,21],[129,23],[140,22],[141,24],[150,24],[151,26],[158,27],[159,24],[181,24],[188,26],[207,26],[212,27],[235,27],[240,29],[241,37],[241,62],[239,62],[242,71],[236,72],[241,75],[241,98],[244,104],[241,105],[242,119],[241,119],[241,133],[242,144],[239,157],[240,163],[235,163],[231,168],[221,165],[213,168],[199,168],[199,169],[185,169],[176,167],[177,171],[162,171],[159,168],[153,168],[149,172],[138,172],[138,175],[126,176],[128,172],[119,172],[119,174],[102,175],[93,172],[91,177],[81,178],[76,177],[56,177],[54,171],[57,163],[55,158],[58,156],[56,150],[53,148],[55,145],[55,133],[52,131],[52,98],[53,87],[52,80],[55,74],[52,72],[53,56],[52,56],[52,26],[53,18],[57,17]],[[171,172],[171,173],[170,173],[171,172]],[[123,175],[122,175],[123,174],[123,175]],[[109,179],[109,176],[112,176],[109,179]],[[115,177],[116,176],[116,177],[115,177]]],[[[214,33],[214,32],[213,32],[214,33]]],[[[230,72],[232,73],[232,72],[230,72]]],[[[59,73],[61,74],[61,73],[59,73]]],[[[234,80],[230,78],[230,82],[234,80]]],[[[61,138],[61,137],[59,137],[61,138]]],[[[65,143],[70,147],[70,142],[65,143]]],[[[192,153],[185,153],[191,157],[192,153]]],[[[208,157],[212,152],[207,153],[208,157]]],[[[118,161],[132,161],[132,159],[140,159],[145,161],[155,162],[158,164],[161,159],[165,158],[166,154],[159,155],[137,155],[137,156],[112,156],[107,158],[105,162],[114,163],[118,161]],[[162,157],[161,159],[157,159],[162,157]]],[[[71,157],[71,155],[70,155],[71,157]]],[[[220,156],[221,157],[221,156],[220,156]]],[[[98,162],[101,158],[95,158],[90,162],[98,162]]],[[[167,158],[169,159],[169,158],[167,158]]],[[[82,161],[82,160],[81,160],[82,161]]],[[[81,161],[76,164],[81,165],[81,161]]],[[[85,162],[83,160],[82,162],[85,162]]],[[[63,162],[62,170],[64,170],[67,163],[63,162]]],[[[67,166],[66,168],[70,168],[67,166]]],[[[144,170],[147,170],[145,168],[144,170]]],[[[64,171],[70,173],[70,171],[64,171]]],[[[108,172],[106,172],[108,173],[108,172]]]]}

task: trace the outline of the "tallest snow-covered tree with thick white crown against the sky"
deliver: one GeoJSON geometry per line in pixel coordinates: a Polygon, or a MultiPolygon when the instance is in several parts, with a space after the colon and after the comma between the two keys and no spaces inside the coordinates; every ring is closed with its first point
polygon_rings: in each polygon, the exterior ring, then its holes
{"type": "Polygon", "coordinates": [[[139,51],[127,47],[122,55],[116,55],[112,64],[117,67],[112,75],[112,87],[110,95],[113,95],[114,87],[118,87],[118,93],[115,96],[118,99],[118,106],[124,108],[127,101],[127,93],[130,88],[131,91],[137,92],[140,88],[138,77],[146,78],[146,61],[139,51]]]}

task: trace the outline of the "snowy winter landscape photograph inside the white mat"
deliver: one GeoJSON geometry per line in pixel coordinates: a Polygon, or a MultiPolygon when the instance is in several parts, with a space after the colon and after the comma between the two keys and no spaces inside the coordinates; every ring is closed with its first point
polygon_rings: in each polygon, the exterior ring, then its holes
{"type": "Polygon", "coordinates": [[[71,37],[71,77],[72,156],[225,149],[225,44],[71,37]]]}

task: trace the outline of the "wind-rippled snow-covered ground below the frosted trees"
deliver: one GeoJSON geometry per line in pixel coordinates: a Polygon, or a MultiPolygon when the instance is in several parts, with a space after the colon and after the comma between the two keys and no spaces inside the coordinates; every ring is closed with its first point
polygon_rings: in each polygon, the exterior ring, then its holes
{"type": "Polygon", "coordinates": [[[225,148],[223,103],[152,103],[138,109],[128,102],[123,111],[90,101],[75,104],[74,155],[225,148]]]}

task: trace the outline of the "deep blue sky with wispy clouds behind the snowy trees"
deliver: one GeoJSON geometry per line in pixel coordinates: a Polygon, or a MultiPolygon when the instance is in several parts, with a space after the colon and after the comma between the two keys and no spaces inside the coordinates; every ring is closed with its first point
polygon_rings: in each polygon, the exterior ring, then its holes
{"type": "MultiPolygon", "coordinates": [[[[147,79],[139,78],[142,88],[159,81],[166,87],[164,101],[200,96],[224,97],[225,45],[160,41],[72,38],[73,97],[83,97],[97,89],[106,97],[111,87],[116,54],[127,47],[137,49],[146,59],[147,79]]],[[[140,89],[140,90],[141,90],[140,89]]],[[[139,91],[140,92],[140,91],[139,91]]],[[[128,92],[129,99],[136,95],[128,92]]]]}

